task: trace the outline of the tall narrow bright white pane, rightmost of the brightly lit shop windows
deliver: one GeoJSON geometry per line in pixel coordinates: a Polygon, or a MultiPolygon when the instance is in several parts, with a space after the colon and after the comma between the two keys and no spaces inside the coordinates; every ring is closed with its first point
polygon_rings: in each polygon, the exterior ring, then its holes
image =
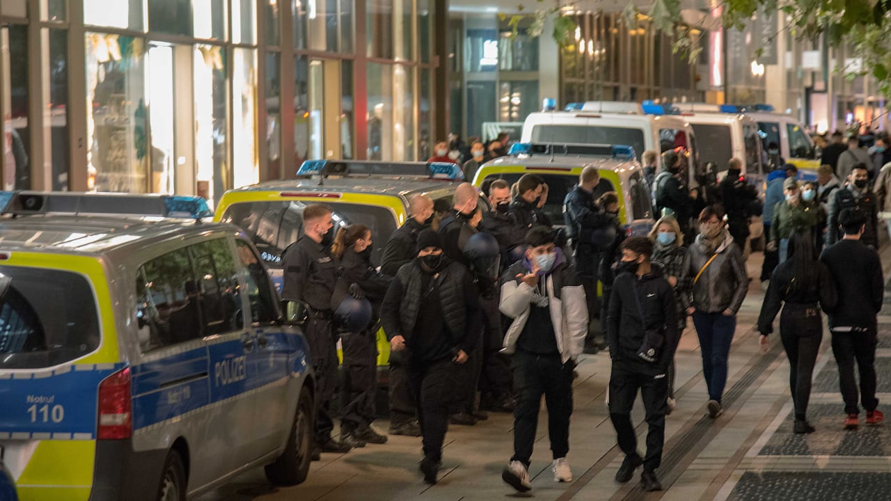
{"type": "Polygon", "coordinates": [[[259,178],[257,166],[257,52],[233,51],[233,187],[253,185],[259,178]]]}

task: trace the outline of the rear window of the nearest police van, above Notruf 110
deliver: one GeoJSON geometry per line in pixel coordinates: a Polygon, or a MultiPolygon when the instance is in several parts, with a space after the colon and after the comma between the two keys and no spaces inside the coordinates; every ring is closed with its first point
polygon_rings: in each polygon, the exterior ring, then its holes
{"type": "Polygon", "coordinates": [[[48,268],[0,267],[0,369],[37,369],[99,346],[86,278],[48,268]]]}

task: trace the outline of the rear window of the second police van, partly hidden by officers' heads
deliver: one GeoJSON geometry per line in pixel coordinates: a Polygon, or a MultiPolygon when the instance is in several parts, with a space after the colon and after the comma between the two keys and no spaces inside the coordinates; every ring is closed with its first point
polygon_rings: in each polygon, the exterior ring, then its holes
{"type": "MultiPolygon", "coordinates": [[[[240,226],[257,246],[268,267],[282,267],[282,252],[303,234],[303,209],[308,201],[257,201],[235,203],[222,221],[240,226]]],[[[396,218],[386,208],[356,203],[327,202],[336,232],[341,226],[360,224],[372,231],[372,264],[380,265],[384,245],[396,231],[396,218]]]]}

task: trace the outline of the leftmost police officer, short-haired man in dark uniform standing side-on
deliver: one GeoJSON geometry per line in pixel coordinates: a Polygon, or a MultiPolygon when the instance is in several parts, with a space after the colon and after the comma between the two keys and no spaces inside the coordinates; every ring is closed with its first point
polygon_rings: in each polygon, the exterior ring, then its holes
{"type": "Polygon", "coordinates": [[[337,264],[331,257],[331,207],[312,204],[303,210],[304,234],[282,255],[284,284],[282,299],[304,301],[309,321],[304,333],[315,367],[315,450],[349,451],[350,447],[331,438],[331,398],[337,379],[337,345],[331,333],[331,295],[337,282],[337,264]]]}

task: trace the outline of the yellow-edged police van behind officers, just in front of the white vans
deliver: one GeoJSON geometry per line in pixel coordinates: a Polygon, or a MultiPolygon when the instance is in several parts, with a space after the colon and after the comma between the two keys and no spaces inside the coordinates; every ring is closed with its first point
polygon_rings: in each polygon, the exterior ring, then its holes
{"type": "Polygon", "coordinates": [[[548,198],[542,210],[556,226],[562,226],[563,201],[578,184],[582,169],[588,165],[596,166],[601,175],[601,183],[594,189],[594,198],[616,192],[619,221],[631,234],[647,234],[655,222],[650,186],[630,146],[513,144],[508,156],[489,160],[477,170],[473,185],[482,186],[486,180],[493,179],[503,179],[513,185],[525,174],[541,176],[548,185],[548,198]]]}

